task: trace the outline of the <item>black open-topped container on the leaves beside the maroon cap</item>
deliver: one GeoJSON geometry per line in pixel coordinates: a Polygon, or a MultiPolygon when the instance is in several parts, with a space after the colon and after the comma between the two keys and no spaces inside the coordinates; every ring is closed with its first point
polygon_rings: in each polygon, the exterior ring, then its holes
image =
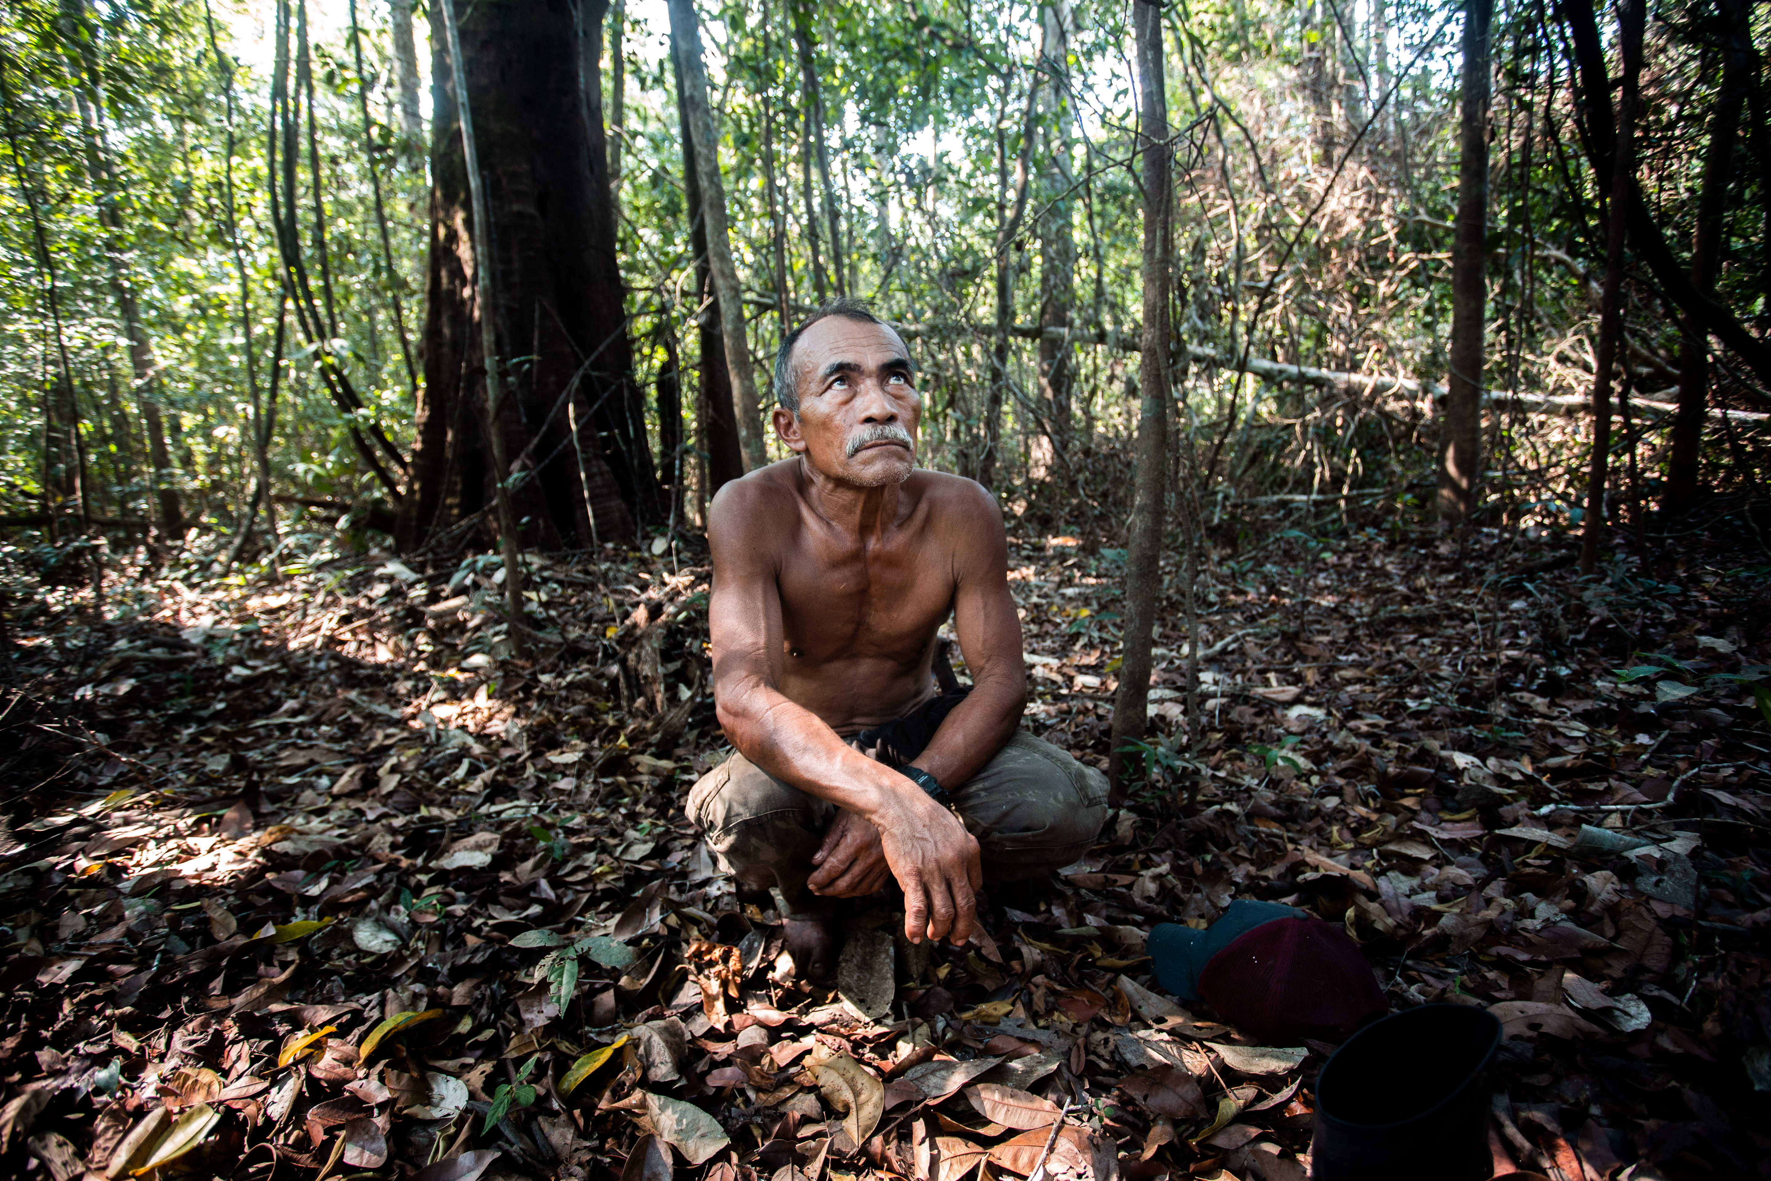
{"type": "Polygon", "coordinates": [[[1316,1181],[1486,1181],[1493,1174],[1488,1009],[1427,1004],[1353,1034],[1316,1078],[1316,1181]]]}

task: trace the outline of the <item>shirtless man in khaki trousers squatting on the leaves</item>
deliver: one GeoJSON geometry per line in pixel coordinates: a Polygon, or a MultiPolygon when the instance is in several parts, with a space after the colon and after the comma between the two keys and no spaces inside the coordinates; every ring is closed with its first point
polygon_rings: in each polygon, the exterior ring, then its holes
{"type": "Polygon", "coordinates": [[[1087,850],[1107,781],[1018,729],[1002,513],[972,480],[916,467],[923,400],[898,333],[859,301],[827,305],[783,342],[774,393],[795,455],[726,483],[708,513],[714,699],[737,751],[689,814],[740,891],[767,907],[779,889],[788,951],[822,976],[824,899],[893,876],[907,938],[963,944],[986,878],[1087,850]],[[949,611],[963,696],[937,696],[932,673],[949,611]]]}

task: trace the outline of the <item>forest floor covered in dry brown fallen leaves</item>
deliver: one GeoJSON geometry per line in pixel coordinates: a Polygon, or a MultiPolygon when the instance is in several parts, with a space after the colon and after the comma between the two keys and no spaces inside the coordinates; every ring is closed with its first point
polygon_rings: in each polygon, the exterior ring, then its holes
{"type": "MultiPolygon", "coordinates": [[[[1502,1018],[1498,1174],[1771,1176],[1771,568],[1282,528],[1201,579],[1195,758],[1153,742],[974,946],[910,949],[880,899],[839,990],[682,814],[723,749],[700,556],[537,560],[528,659],[485,560],[142,575],[96,625],[37,591],[0,717],[0,1169],[995,1179],[1068,1103],[1048,1174],[1289,1181],[1332,1046],[1250,1046],[1141,958],[1263,898],[1342,924],[1392,1007],[1502,1018]]],[[[1121,560],[1011,538],[1027,726],[1094,763],[1121,560]]]]}

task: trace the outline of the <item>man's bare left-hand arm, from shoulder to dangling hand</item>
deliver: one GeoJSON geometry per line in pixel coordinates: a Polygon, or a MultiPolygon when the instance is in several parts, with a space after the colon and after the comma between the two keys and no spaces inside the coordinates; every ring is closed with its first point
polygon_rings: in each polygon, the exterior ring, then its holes
{"type": "Polygon", "coordinates": [[[772,503],[777,498],[790,494],[733,480],[708,512],[708,630],[719,724],[762,770],[878,829],[886,861],[905,892],[910,940],[926,933],[965,942],[976,910],[972,891],[981,884],[978,841],[914,783],[845,744],[824,719],[777,689],[779,549],[758,528],[781,512],[797,512],[792,503],[772,503]]]}

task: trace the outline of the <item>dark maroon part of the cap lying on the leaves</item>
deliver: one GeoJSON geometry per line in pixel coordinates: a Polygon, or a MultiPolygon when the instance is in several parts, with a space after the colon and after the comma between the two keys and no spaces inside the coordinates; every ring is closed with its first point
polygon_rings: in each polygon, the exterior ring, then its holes
{"type": "Polygon", "coordinates": [[[1273,919],[1238,937],[1199,974],[1199,995],[1270,1045],[1346,1041],[1388,1011],[1358,944],[1316,917],[1273,919]]]}

